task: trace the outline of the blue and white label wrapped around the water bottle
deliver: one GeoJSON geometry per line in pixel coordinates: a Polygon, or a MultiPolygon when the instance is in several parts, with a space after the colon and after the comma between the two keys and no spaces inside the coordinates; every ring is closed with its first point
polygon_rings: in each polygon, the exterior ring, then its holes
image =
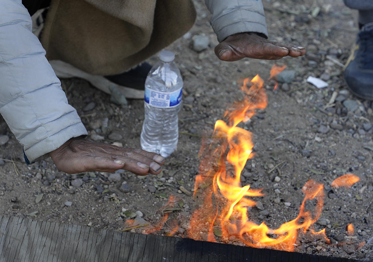
{"type": "Polygon", "coordinates": [[[173,108],[181,102],[183,88],[172,92],[161,92],[145,87],[144,101],[158,108],[173,108]]]}

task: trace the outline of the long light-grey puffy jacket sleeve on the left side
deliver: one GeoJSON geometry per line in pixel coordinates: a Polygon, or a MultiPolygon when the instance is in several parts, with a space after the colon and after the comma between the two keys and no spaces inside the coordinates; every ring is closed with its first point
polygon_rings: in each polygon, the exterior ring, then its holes
{"type": "Polygon", "coordinates": [[[26,162],[87,134],[31,28],[21,0],[0,0],[0,114],[26,162]]]}

